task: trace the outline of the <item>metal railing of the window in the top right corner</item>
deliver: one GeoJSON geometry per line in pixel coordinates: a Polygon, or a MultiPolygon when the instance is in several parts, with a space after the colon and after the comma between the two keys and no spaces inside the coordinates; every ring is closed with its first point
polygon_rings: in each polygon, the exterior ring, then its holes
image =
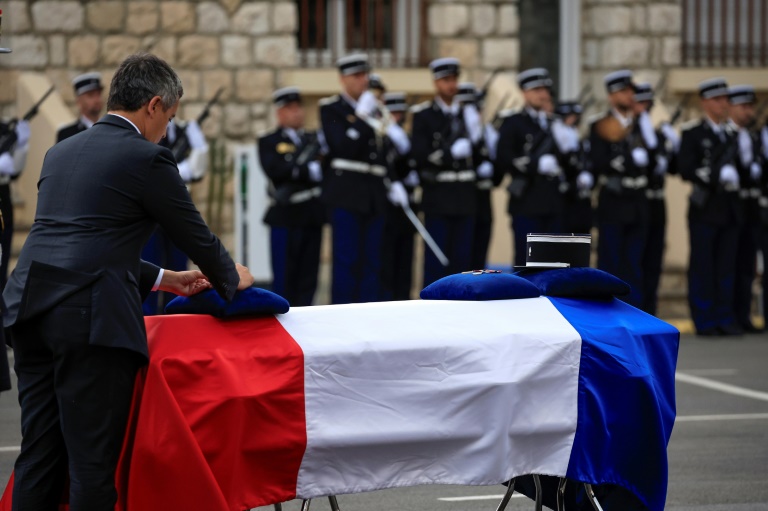
{"type": "Polygon", "coordinates": [[[682,0],[686,67],[768,66],[768,1],[682,0]]]}

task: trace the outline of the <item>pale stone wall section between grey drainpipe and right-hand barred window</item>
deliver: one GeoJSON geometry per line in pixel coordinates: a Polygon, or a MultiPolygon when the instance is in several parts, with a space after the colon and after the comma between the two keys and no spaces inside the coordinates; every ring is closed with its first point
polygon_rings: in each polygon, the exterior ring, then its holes
{"type": "Polygon", "coordinates": [[[679,0],[583,0],[583,82],[599,100],[606,96],[603,76],[617,69],[658,84],[680,67],[681,15],[679,0]]]}

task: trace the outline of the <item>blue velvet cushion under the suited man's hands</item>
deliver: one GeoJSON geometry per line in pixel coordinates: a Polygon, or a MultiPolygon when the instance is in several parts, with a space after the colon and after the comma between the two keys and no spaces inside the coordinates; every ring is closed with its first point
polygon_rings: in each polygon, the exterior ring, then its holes
{"type": "Polygon", "coordinates": [[[165,306],[165,312],[168,314],[209,314],[217,318],[228,318],[285,314],[289,308],[288,300],[282,296],[266,289],[249,287],[236,292],[231,302],[226,302],[213,289],[193,296],[177,296],[165,306]]]}

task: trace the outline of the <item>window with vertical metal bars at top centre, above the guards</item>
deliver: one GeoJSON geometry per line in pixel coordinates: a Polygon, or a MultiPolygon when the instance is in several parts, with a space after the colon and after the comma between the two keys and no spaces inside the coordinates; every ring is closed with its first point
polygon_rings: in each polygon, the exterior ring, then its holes
{"type": "Polygon", "coordinates": [[[297,0],[304,67],[333,66],[367,53],[374,67],[416,67],[426,60],[422,0],[297,0]]]}

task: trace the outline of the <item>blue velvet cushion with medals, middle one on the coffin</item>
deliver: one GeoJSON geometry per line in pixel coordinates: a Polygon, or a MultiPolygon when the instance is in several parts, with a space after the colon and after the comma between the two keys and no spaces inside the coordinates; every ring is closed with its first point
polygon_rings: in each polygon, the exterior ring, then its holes
{"type": "Polygon", "coordinates": [[[538,288],[516,275],[492,270],[457,273],[421,290],[423,300],[510,300],[541,296],[538,288]]]}

